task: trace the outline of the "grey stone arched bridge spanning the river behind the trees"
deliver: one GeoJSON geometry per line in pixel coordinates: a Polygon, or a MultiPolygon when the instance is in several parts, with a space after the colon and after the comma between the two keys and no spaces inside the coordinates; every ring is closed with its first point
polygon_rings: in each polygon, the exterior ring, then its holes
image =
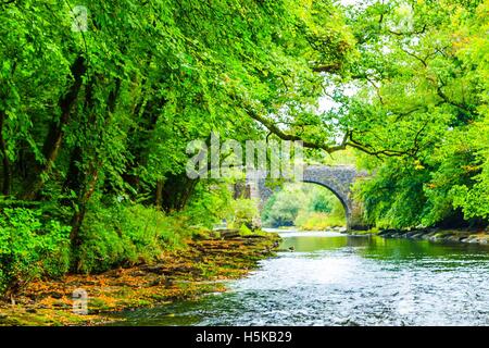
{"type": "MultiPolygon", "coordinates": [[[[312,183],[328,188],[341,201],[347,215],[347,229],[367,228],[363,220],[362,203],[352,195],[352,185],[367,177],[366,172],[359,172],[351,165],[310,165],[303,171],[303,182],[312,183]]],[[[255,172],[247,178],[249,195],[260,200],[260,209],[263,209],[266,200],[274,194],[266,182],[266,172],[255,172]]]]}

